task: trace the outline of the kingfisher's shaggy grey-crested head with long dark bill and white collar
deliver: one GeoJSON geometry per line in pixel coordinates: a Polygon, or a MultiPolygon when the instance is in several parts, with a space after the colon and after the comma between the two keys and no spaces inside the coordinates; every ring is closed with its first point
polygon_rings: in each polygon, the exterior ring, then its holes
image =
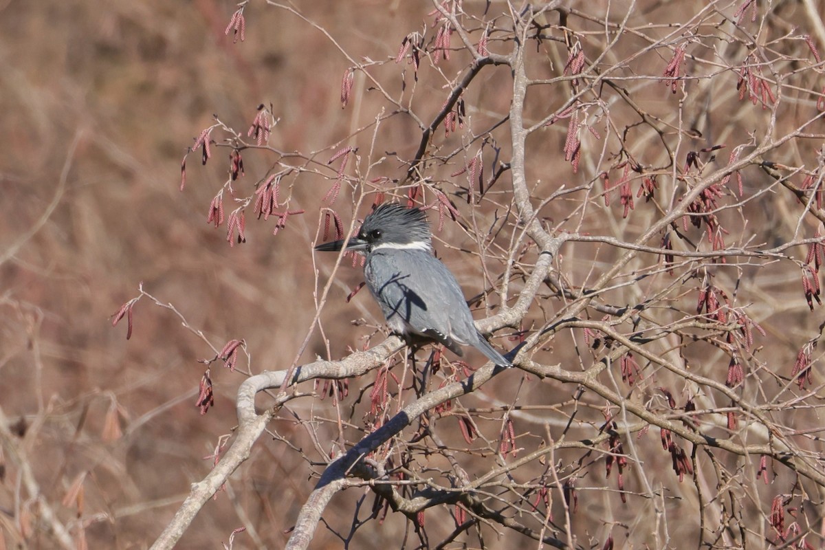
{"type": "Polygon", "coordinates": [[[427,215],[417,208],[405,208],[398,203],[380,204],[368,215],[361,230],[349,241],[325,242],[315,247],[318,251],[346,250],[372,252],[379,249],[432,249],[430,224],[427,215]]]}

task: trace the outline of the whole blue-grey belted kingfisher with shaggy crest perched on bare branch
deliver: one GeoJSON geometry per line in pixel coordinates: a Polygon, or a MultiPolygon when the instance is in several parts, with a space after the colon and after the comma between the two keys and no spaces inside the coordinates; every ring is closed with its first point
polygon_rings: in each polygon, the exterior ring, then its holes
{"type": "Polygon", "coordinates": [[[380,204],[349,241],[327,242],[318,251],[357,251],[366,256],[364,276],[389,328],[408,342],[436,341],[455,355],[473,346],[493,363],[512,367],[473,324],[455,277],[432,254],[430,224],[421,209],[380,204]]]}

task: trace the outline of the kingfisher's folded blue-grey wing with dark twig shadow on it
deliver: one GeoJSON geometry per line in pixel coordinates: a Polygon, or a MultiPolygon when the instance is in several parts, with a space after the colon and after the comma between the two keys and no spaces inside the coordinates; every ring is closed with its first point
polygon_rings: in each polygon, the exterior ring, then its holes
{"type": "Polygon", "coordinates": [[[450,270],[430,253],[375,251],[367,258],[364,274],[394,330],[403,326],[454,352],[459,344],[474,345],[477,331],[464,294],[450,270]]]}

